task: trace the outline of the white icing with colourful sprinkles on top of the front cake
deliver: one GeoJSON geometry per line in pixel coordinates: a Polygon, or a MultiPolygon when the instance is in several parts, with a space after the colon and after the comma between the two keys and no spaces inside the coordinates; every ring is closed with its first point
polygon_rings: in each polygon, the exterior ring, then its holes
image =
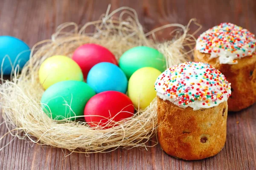
{"type": "Polygon", "coordinates": [[[154,87],[161,99],[194,111],[218,106],[231,95],[225,76],[203,62],[184,62],[166,69],[154,87]]]}

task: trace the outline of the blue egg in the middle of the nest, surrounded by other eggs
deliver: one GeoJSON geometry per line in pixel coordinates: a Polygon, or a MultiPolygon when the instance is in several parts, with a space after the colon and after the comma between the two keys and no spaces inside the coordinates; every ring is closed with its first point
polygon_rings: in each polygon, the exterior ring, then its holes
{"type": "Polygon", "coordinates": [[[90,69],[87,84],[96,93],[102,91],[119,91],[126,93],[128,80],[125,73],[110,62],[100,62],[90,69]]]}

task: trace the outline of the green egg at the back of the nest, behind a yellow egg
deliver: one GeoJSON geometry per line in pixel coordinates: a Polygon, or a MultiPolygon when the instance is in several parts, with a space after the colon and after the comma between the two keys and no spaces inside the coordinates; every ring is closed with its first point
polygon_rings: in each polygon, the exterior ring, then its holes
{"type": "Polygon", "coordinates": [[[125,51],[119,59],[119,67],[129,79],[140,68],[153,67],[163,72],[166,59],[159,51],[146,46],[138,46],[125,51]]]}

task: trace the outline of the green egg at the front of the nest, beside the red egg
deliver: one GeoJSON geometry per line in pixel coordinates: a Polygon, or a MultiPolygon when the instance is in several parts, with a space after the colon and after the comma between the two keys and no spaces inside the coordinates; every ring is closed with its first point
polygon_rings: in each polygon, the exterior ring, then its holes
{"type": "Polygon", "coordinates": [[[68,119],[82,116],[87,101],[93,95],[95,92],[85,82],[74,80],[57,82],[44,92],[41,106],[52,119],[68,119]]]}

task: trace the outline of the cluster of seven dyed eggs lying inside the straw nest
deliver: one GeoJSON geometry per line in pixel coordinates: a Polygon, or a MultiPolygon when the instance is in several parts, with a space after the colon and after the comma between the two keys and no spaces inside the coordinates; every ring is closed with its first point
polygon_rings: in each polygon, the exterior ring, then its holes
{"type": "Polygon", "coordinates": [[[79,116],[91,127],[109,125],[110,119],[133,116],[134,107],[150,105],[154,82],[165,69],[165,57],[154,48],[131,48],[118,62],[107,48],[84,44],[72,58],[56,55],[41,64],[41,105],[52,119],[79,116]]]}

